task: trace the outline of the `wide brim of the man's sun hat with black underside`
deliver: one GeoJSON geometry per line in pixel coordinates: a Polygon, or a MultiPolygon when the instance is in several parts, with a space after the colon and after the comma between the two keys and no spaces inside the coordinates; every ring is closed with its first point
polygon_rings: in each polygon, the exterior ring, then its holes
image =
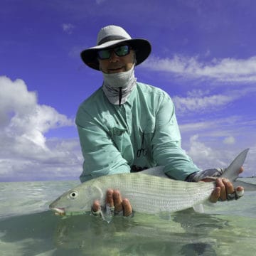
{"type": "Polygon", "coordinates": [[[129,46],[132,46],[132,48],[136,51],[136,65],[141,64],[144,60],[146,60],[146,58],[148,58],[149,54],[151,53],[151,44],[145,39],[119,39],[107,41],[102,43],[100,46],[82,50],[80,53],[82,61],[90,68],[100,70],[99,61],[97,60],[97,50],[115,46],[119,43],[128,43],[129,46]]]}

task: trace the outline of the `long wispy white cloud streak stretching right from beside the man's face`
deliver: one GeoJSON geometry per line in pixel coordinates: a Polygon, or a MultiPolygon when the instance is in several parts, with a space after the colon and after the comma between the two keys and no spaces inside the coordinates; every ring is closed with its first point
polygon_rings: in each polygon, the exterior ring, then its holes
{"type": "Polygon", "coordinates": [[[223,82],[256,81],[256,56],[213,59],[208,63],[200,62],[198,57],[174,55],[174,58],[161,59],[152,56],[142,66],[188,78],[210,78],[223,82]]]}

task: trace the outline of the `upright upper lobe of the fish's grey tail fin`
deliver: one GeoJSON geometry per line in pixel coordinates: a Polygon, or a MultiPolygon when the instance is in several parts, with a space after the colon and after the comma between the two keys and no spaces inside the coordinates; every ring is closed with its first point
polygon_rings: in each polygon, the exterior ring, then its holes
{"type": "Polygon", "coordinates": [[[224,171],[223,175],[221,177],[228,178],[231,182],[234,182],[236,178],[238,178],[239,170],[242,167],[242,164],[244,163],[247,153],[249,149],[245,149],[242,151],[228,166],[228,168],[224,171]]]}

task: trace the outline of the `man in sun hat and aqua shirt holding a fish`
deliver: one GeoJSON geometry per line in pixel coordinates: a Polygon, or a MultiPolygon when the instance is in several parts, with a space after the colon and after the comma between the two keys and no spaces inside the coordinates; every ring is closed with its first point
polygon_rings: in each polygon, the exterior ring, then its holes
{"type": "MultiPolygon", "coordinates": [[[[167,176],[181,181],[211,181],[206,176],[222,174],[220,169],[201,171],[181,149],[169,95],[137,82],[134,66],[146,60],[150,52],[149,41],[132,39],[119,26],[102,28],[97,46],[82,51],[83,62],[102,71],[103,85],[82,102],[76,117],[85,159],[80,181],[153,166],[164,166],[167,176]]],[[[225,201],[233,195],[233,184],[217,178],[210,201],[225,201]]],[[[122,199],[119,191],[110,188],[106,203],[119,215],[132,214],[129,198],[122,199]]],[[[95,201],[92,211],[99,210],[100,204],[95,201]]]]}

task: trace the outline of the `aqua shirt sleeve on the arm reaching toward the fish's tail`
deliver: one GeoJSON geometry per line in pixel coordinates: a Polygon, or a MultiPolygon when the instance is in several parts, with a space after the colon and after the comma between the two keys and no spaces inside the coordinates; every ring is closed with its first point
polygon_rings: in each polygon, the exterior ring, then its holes
{"type": "Polygon", "coordinates": [[[153,157],[158,166],[165,166],[166,175],[184,181],[189,174],[200,171],[191,158],[181,149],[174,103],[164,97],[156,113],[156,128],[152,139],[153,157]]]}

